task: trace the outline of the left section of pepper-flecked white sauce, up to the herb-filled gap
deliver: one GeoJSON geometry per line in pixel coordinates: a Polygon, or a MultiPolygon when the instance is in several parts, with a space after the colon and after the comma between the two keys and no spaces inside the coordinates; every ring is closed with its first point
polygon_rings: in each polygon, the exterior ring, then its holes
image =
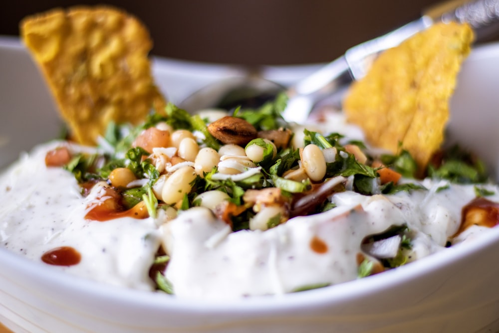
{"type": "Polygon", "coordinates": [[[81,254],[81,262],[54,269],[116,286],[152,290],[148,270],[160,244],[156,224],[152,219],[85,220],[94,197],[80,195],[71,173],[45,166],[46,151],[58,145],[38,147],[0,179],[0,246],[38,262],[46,251],[69,246],[81,254]]]}

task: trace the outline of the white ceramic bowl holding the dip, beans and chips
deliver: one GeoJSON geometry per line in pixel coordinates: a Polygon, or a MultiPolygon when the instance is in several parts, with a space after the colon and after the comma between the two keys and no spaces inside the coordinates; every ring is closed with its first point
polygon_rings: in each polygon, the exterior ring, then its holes
{"type": "MultiPolygon", "coordinates": [[[[315,68],[269,67],[289,83],[315,68]]],[[[226,66],[157,59],[173,101],[226,66]]],[[[50,139],[60,122],[25,50],[0,39],[0,165],[50,139]]],[[[499,44],[466,61],[452,100],[450,137],[482,154],[498,175],[499,44]]],[[[499,178],[499,177],[497,177],[499,178]]],[[[1,217],[0,217],[1,224],[1,217]]],[[[176,300],[78,279],[0,249],[0,322],[14,332],[470,333],[499,330],[499,228],[479,241],[380,275],[280,297],[230,302],[176,300]]]]}

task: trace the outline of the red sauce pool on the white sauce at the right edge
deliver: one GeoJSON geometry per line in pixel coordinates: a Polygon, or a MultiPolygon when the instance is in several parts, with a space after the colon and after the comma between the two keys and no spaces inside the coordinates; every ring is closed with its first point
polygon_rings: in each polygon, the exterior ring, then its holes
{"type": "Polygon", "coordinates": [[[476,198],[463,207],[461,227],[457,235],[473,225],[492,228],[499,224],[499,204],[485,198],[476,198]]]}

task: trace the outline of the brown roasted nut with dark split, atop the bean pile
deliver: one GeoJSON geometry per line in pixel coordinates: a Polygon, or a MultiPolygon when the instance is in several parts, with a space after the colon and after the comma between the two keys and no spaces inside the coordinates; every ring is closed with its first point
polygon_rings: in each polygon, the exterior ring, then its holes
{"type": "Polygon", "coordinates": [[[256,128],[248,121],[226,116],[208,125],[211,135],[222,141],[224,144],[246,145],[256,138],[256,128]]]}

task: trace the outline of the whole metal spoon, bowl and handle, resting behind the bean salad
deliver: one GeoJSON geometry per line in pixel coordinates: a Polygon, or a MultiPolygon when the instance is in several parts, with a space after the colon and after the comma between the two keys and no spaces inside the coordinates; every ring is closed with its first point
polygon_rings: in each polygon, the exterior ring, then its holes
{"type": "Polygon", "coordinates": [[[237,105],[257,107],[278,92],[289,96],[282,116],[288,122],[302,123],[319,103],[340,107],[344,92],[352,80],[363,77],[376,56],[400,44],[413,34],[437,21],[468,22],[475,30],[476,40],[482,40],[499,28],[499,0],[451,0],[429,8],[419,19],[383,36],[348,49],[345,54],[289,88],[258,76],[232,77],[208,85],[180,103],[190,112],[237,105]]]}

